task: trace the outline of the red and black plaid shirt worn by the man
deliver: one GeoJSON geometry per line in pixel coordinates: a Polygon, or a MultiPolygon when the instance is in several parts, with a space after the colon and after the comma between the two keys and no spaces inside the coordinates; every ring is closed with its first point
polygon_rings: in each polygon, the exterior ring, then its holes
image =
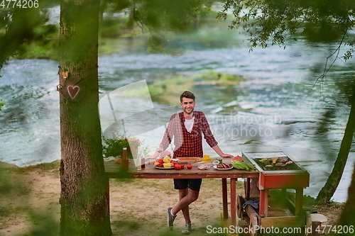
{"type": "Polygon", "coordinates": [[[185,128],[184,113],[175,113],[171,116],[168,128],[165,130],[160,147],[165,150],[174,137],[174,157],[203,157],[202,133],[210,147],[218,142],[214,139],[207,118],[202,111],[194,111],[194,124],[191,133],[185,128]]]}

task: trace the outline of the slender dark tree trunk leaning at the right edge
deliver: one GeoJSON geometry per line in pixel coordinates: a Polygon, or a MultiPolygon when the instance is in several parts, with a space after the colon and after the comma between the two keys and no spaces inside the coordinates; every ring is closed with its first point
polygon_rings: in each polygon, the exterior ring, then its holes
{"type": "Polygon", "coordinates": [[[355,120],[355,84],[351,94],[351,110],[349,113],[349,119],[348,122],[346,123],[344,137],[342,140],[342,144],[340,145],[338,157],[334,163],[332,173],[329,175],[327,182],[324,184],[320,193],[318,193],[316,199],[317,204],[328,203],[332,198],[332,196],[334,195],[334,192],[337,190],[339,182],[342,179],[346,160],[348,159],[349,151],[351,148],[351,142],[353,140],[353,135],[355,131],[354,120],[355,120]]]}

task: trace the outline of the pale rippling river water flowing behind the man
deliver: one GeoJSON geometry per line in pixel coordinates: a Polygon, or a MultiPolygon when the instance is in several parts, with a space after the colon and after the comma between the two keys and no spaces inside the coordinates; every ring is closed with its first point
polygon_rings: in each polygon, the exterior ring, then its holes
{"type": "MultiPolygon", "coordinates": [[[[317,196],[332,171],[349,113],[344,106],[331,118],[328,132],[317,133],[324,108],[338,92],[334,81],[351,76],[339,61],[329,79],[315,82],[335,46],[301,42],[285,49],[275,46],[249,52],[237,33],[198,38],[208,33],[200,31],[195,38],[171,42],[170,46],[185,49],[175,57],[149,54],[143,44],[122,40],[118,46],[124,50],[99,57],[100,96],[133,82],[146,80],[149,84],[176,74],[190,76],[213,70],[240,75],[244,78],[241,84],[195,84],[189,88],[197,96],[195,110],[204,111],[226,153],[283,150],[301,161],[311,176],[305,193],[317,196]]],[[[0,99],[6,106],[0,112],[1,162],[26,166],[60,159],[57,73],[58,62],[52,60],[11,60],[2,69],[0,99]]],[[[127,118],[124,124],[150,152],[160,142],[171,114],[180,111],[178,97],[175,104],[157,99],[152,104],[153,109],[140,118],[127,118]]],[[[204,151],[215,156],[207,145],[204,151]]],[[[354,159],[351,150],[335,201],[346,201],[354,159]]]]}

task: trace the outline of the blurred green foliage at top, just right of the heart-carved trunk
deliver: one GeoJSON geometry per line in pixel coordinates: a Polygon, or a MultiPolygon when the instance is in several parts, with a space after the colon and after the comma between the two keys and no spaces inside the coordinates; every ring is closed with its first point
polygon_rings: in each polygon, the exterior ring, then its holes
{"type": "Polygon", "coordinates": [[[164,47],[168,40],[167,31],[187,30],[191,21],[210,11],[211,4],[212,1],[209,0],[106,0],[102,3],[102,11],[111,15],[125,13],[128,15],[128,26],[133,26],[133,22],[136,22],[143,33],[149,33],[148,51],[175,55],[178,53],[176,50],[167,50],[164,47]]]}

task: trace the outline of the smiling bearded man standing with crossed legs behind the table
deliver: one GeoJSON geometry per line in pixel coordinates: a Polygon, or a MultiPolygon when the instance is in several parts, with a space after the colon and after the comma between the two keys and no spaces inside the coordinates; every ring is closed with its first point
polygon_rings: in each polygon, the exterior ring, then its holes
{"type": "MultiPolygon", "coordinates": [[[[184,91],[180,96],[182,112],[171,116],[168,128],[165,130],[163,140],[160,142],[157,152],[151,157],[158,157],[159,153],[165,150],[174,137],[174,158],[179,157],[203,157],[202,134],[207,144],[220,157],[233,157],[231,154],[224,154],[214,139],[207,118],[202,111],[194,111],[195,95],[190,91],[184,91]]],[[[173,207],[168,208],[168,226],[173,230],[173,222],[176,214],[182,210],[185,218],[184,234],[190,234],[191,219],[189,206],[197,200],[200,193],[202,179],[174,179],[175,189],[179,190],[180,201],[173,207]]]]}

